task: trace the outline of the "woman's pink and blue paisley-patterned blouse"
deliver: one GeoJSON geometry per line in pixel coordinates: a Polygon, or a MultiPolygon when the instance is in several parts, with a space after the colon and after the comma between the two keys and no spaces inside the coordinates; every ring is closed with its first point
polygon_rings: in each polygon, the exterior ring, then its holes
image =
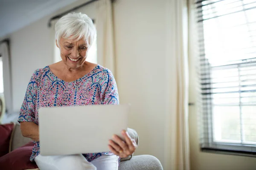
{"type": "MultiPolygon", "coordinates": [[[[38,125],[38,109],[41,107],[78,105],[118,105],[119,96],[113,74],[107,68],[97,65],[88,74],[73,82],[56,77],[49,66],[37,69],[32,75],[20,109],[18,122],[34,122],[38,125]]],[[[30,161],[40,153],[40,144],[35,142],[30,161]]],[[[111,152],[86,153],[90,162],[111,152]]]]}

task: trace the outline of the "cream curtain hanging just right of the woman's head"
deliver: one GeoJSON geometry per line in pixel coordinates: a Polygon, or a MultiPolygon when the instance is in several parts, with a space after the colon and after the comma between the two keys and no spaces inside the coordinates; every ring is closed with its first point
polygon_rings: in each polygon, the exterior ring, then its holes
{"type": "Polygon", "coordinates": [[[110,69],[115,76],[112,3],[111,0],[96,3],[98,63],[110,69]]]}

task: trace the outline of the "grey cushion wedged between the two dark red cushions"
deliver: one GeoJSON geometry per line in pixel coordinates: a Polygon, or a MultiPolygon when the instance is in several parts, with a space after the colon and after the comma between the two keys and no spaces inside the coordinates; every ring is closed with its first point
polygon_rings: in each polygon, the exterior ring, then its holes
{"type": "Polygon", "coordinates": [[[30,141],[32,141],[32,139],[25,138],[24,136],[22,136],[20,124],[16,123],[16,126],[13,128],[13,134],[10,145],[11,147],[9,152],[12,152],[13,150],[23,146],[24,144],[27,144],[30,141]]]}

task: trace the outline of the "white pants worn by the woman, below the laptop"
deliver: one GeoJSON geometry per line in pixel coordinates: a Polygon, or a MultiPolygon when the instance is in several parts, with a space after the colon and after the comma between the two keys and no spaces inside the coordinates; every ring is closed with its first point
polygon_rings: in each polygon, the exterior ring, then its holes
{"type": "Polygon", "coordinates": [[[35,157],[40,170],[118,170],[119,156],[102,155],[88,162],[82,154],[35,157]]]}

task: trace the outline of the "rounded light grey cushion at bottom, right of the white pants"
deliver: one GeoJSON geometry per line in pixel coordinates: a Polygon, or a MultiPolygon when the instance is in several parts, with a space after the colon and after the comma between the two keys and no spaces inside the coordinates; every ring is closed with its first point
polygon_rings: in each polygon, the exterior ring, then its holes
{"type": "Polygon", "coordinates": [[[118,170],[163,170],[160,161],[151,155],[133,156],[131,160],[122,161],[118,170]]]}

